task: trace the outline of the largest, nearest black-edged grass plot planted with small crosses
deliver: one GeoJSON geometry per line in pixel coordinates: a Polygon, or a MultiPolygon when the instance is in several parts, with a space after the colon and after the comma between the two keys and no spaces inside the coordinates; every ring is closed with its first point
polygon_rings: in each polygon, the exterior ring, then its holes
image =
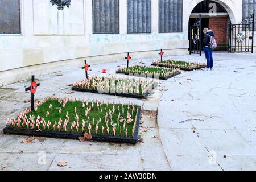
{"type": "Polygon", "coordinates": [[[13,119],[5,134],[136,143],[141,106],[47,97],[13,119]]]}

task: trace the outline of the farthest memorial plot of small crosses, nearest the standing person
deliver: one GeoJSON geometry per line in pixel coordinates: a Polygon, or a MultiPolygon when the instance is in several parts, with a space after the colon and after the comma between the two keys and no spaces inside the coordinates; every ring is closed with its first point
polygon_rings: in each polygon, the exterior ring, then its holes
{"type": "Polygon", "coordinates": [[[177,60],[154,61],[152,65],[158,66],[158,67],[176,68],[184,71],[193,71],[195,69],[201,69],[207,66],[204,63],[177,61],[177,60]]]}

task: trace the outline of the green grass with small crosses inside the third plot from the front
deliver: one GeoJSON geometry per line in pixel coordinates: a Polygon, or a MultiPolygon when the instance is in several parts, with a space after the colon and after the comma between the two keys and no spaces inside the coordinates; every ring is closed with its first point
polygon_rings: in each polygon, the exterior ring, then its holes
{"type": "Polygon", "coordinates": [[[134,70],[139,70],[139,71],[142,71],[142,72],[150,72],[151,74],[153,75],[159,75],[159,76],[162,76],[162,77],[165,77],[164,74],[168,74],[172,71],[174,71],[173,69],[163,69],[163,68],[154,68],[154,67],[142,67],[142,66],[134,66],[134,67],[129,67],[129,68],[126,68],[126,69],[119,69],[120,71],[122,72],[125,72],[125,73],[135,73],[134,70]]]}

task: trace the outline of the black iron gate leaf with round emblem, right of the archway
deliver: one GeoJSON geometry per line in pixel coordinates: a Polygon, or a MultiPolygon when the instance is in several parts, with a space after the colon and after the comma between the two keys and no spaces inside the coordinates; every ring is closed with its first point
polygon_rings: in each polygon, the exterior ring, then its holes
{"type": "Polygon", "coordinates": [[[229,23],[229,52],[253,53],[254,14],[246,17],[241,23],[229,23]]]}

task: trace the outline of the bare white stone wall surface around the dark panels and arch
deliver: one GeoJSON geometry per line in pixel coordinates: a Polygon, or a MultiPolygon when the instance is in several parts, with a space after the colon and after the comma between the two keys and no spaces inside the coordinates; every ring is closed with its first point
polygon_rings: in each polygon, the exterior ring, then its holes
{"type": "MultiPolygon", "coordinates": [[[[57,10],[49,0],[20,0],[22,34],[0,35],[0,86],[63,69],[133,58],[188,53],[188,20],[202,0],[184,0],[183,32],[158,34],[158,0],[152,0],[152,33],[127,35],[126,0],[120,0],[120,34],[92,34],[92,1],[72,0],[57,10]]],[[[234,22],[242,17],[242,0],[222,0],[234,22]]],[[[256,41],[255,41],[256,42],[256,41]]]]}

